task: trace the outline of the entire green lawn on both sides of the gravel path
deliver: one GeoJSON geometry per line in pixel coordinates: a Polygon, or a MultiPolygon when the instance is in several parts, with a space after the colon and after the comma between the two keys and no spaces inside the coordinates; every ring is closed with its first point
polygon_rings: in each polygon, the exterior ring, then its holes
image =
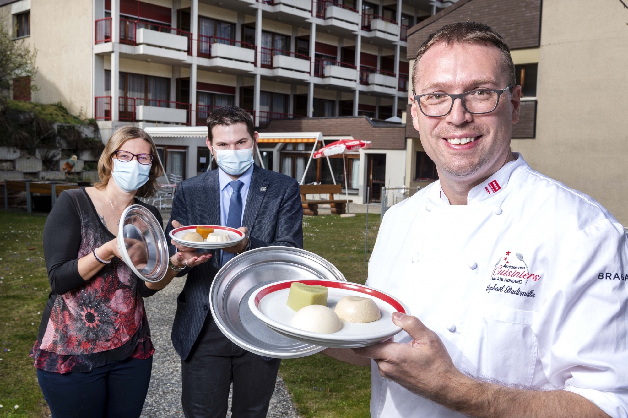
{"type": "MultiPolygon", "coordinates": [[[[39,418],[49,413],[28,357],[50,291],[41,249],[45,220],[0,212],[0,417],[39,418]]],[[[365,215],[305,217],[305,249],[332,262],[347,280],[364,284],[364,227],[365,215]]],[[[369,249],[378,228],[379,214],[369,215],[369,249]]],[[[304,418],[370,416],[369,368],[317,354],[283,360],[279,372],[304,418]]]]}

